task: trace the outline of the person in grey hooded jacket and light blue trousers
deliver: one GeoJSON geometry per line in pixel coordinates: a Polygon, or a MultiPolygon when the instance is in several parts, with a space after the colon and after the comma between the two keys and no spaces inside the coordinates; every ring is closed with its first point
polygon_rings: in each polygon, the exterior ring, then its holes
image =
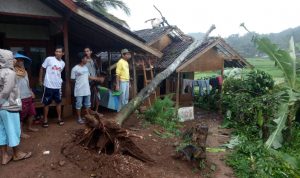
{"type": "Polygon", "coordinates": [[[29,158],[31,152],[24,153],[18,149],[20,144],[20,115],[22,109],[17,75],[14,71],[13,54],[11,51],[0,49],[0,147],[2,164],[10,160],[29,158]],[[7,151],[12,147],[13,155],[7,151]]]}

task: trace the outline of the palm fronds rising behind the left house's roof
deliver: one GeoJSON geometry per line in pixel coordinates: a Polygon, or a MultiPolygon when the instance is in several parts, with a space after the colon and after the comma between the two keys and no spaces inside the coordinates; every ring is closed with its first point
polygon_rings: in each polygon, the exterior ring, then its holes
{"type": "Polygon", "coordinates": [[[122,10],[126,15],[130,15],[130,8],[122,0],[77,0],[77,2],[83,2],[92,9],[106,16],[108,19],[129,27],[125,20],[108,13],[108,10],[113,8],[122,10]]]}

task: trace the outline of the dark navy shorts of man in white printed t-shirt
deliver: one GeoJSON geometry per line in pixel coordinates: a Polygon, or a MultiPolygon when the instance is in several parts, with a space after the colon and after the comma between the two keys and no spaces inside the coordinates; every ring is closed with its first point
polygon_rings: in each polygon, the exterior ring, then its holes
{"type": "Polygon", "coordinates": [[[52,100],[54,100],[56,104],[61,103],[61,89],[53,89],[53,88],[45,87],[42,103],[48,106],[52,103],[52,100]]]}

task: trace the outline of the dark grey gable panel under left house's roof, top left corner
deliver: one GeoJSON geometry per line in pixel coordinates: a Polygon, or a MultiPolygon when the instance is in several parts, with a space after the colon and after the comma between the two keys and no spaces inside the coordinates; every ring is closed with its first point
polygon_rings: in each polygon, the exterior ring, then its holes
{"type": "Polygon", "coordinates": [[[39,0],[0,0],[0,13],[56,17],[61,15],[39,0]]]}

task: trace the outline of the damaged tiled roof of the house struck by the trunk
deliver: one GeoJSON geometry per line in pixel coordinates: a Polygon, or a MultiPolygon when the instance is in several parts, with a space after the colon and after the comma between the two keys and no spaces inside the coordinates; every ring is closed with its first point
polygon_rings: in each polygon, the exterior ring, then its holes
{"type": "MultiPolygon", "coordinates": [[[[169,44],[161,52],[163,56],[158,60],[154,66],[158,69],[165,69],[174,60],[183,53],[194,41],[194,39],[184,34],[176,26],[159,27],[152,29],[143,29],[135,31],[135,34],[143,38],[148,45],[161,39],[162,36],[168,35],[172,39],[169,44]]],[[[215,48],[217,52],[224,57],[224,67],[245,67],[251,66],[243,57],[241,57],[233,48],[231,48],[221,37],[210,37],[207,41],[202,43],[199,47],[193,50],[186,59],[181,63],[183,65],[187,61],[193,59],[196,55],[204,50],[215,48]]],[[[180,66],[181,66],[180,65],[180,66]]],[[[180,67],[179,66],[179,67],[180,67]]],[[[178,68],[179,68],[178,67],[178,68]]]]}

